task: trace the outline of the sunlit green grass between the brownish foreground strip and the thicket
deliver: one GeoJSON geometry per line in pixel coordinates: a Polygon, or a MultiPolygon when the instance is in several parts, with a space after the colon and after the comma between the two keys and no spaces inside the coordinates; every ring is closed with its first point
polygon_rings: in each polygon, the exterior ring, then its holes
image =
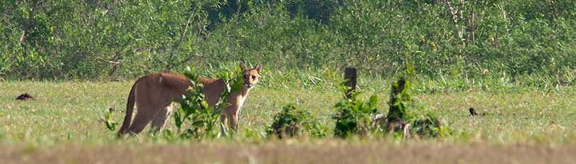
{"type": "MultiPolygon", "coordinates": [[[[237,138],[247,141],[264,141],[265,128],[284,104],[295,103],[309,109],[321,124],[334,128],[333,106],[341,98],[335,80],[320,79],[316,84],[304,85],[314,77],[304,80],[262,82],[252,89],[240,118],[237,138]],[[329,84],[332,84],[330,86],[329,84]]],[[[367,78],[369,79],[369,78],[367,78]]],[[[269,80],[271,81],[271,80],[269,80]]],[[[380,110],[388,111],[388,82],[385,80],[361,81],[366,93],[378,94],[380,110]],[[369,83],[380,83],[378,87],[369,83]],[[375,92],[376,91],[376,92],[375,92]]],[[[56,143],[116,143],[114,132],[107,131],[99,119],[108,108],[116,109],[114,121],[122,122],[126,97],[132,80],[124,82],[2,82],[0,89],[1,141],[4,143],[31,143],[46,145],[56,143]],[[14,98],[23,92],[36,99],[18,101],[14,98]]],[[[415,87],[418,88],[418,87],[415,87]]],[[[576,99],[570,87],[550,92],[544,89],[502,89],[503,92],[472,87],[471,92],[449,91],[417,92],[413,99],[416,106],[439,114],[451,136],[431,139],[434,142],[484,142],[511,143],[574,143],[576,124],[572,121],[576,99]],[[484,116],[469,116],[469,107],[484,116]]],[[[442,89],[440,89],[442,90],[442,89]]],[[[412,110],[417,112],[421,110],[412,110]]],[[[167,129],[174,130],[169,121],[167,129]]],[[[331,135],[329,135],[331,136],[331,135]]],[[[142,138],[146,138],[145,136],[142,138]]],[[[145,141],[145,139],[144,139],[145,141]]]]}

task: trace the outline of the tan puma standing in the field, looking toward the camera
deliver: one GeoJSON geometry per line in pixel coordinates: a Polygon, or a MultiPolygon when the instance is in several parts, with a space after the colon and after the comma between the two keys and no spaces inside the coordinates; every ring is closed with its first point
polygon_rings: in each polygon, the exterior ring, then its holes
{"type": "MultiPolygon", "coordinates": [[[[238,125],[240,108],[244,104],[250,89],[258,82],[260,70],[262,70],[261,65],[246,69],[244,63],[240,63],[240,68],[242,68],[242,80],[244,83],[238,92],[228,95],[226,99],[231,105],[223,109],[220,114],[220,121],[224,125],[228,125],[228,120],[230,120],[230,126],[233,129],[238,125]]],[[[224,81],[198,77],[198,82],[204,85],[203,92],[208,105],[215,106],[218,103],[220,94],[224,91],[224,81]]],[[[130,90],[126,105],[126,116],[124,116],[124,123],[122,123],[117,136],[122,136],[124,133],[139,133],[144,130],[149,121],[152,121],[152,129],[163,129],[166,119],[171,114],[172,102],[181,102],[182,95],[186,93],[190,86],[190,80],[183,75],[156,73],[140,77],[134,82],[132,90],[130,90]],[[134,121],[130,124],[134,103],[137,106],[137,113],[134,116],[134,121]]]]}

